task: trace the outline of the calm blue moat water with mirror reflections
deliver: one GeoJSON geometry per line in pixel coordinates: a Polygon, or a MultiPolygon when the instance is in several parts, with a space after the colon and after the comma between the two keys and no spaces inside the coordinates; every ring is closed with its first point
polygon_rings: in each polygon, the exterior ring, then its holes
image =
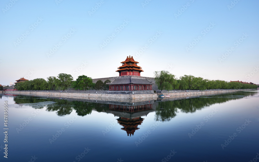
{"type": "Polygon", "coordinates": [[[8,159],[0,135],[1,161],[259,160],[258,91],[134,105],[0,98],[9,128],[8,159]]]}

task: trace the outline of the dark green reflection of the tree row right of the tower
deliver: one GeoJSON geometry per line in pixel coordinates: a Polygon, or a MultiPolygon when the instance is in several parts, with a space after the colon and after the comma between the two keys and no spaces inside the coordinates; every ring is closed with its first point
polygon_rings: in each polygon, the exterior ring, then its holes
{"type": "Polygon", "coordinates": [[[156,106],[156,121],[170,121],[177,113],[177,109],[180,109],[185,113],[193,113],[197,110],[201,110],[204,107],[216,103],[224,103],[230,100],[237,100],[245,96],[253,96],[255,92],[237,92],[225,95],[216,95],[209,97],[197,97],[175,101],[158,102],[156,106]]]}

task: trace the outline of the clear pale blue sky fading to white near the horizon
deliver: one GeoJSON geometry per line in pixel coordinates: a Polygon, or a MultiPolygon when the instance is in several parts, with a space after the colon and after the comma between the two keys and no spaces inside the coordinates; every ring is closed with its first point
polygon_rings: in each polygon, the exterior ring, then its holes
{"type": "Polygon", "coordinates": [[[168,70],[177,78],[186,74],[259,84],[257,0],[57,2],[0,2],[0,84],[21,77],[47,80],[59,73],[71,74],[74,80],[79,75],[118,76],[115,71],[129,55],[142,67],[141,76],[153,77],[154,71],[168,70]],[[156,35],[159,37],[151,41],[156,35]],[[62,45],[54,54],[47,56],[59,43],[62,45]],[[227,50],[231,53],[223,57],[227,50]]]}

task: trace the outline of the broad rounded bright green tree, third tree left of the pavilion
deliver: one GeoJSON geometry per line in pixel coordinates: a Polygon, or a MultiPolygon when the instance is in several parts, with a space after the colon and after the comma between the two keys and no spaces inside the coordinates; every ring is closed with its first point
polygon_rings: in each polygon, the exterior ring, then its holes
{"type": "Polygon", "coordinates": [[[93,88],[94,83],[92,81],[92,78],[87,77],[85,75],[78,76],[76,81],[73,81],[71,84],[72,88],[80,89],[80,90],[88,90],[90,88],[93,88]]]}

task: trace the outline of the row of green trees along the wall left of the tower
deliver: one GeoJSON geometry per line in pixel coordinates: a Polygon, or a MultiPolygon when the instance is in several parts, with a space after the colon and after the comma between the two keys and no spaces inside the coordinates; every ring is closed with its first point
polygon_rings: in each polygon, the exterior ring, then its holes
{"type": "Polygon", "coordinates": [[[67,90],[70,88],[76,90],[107,90],[109,89],[109,85],[106,83],[110,82],[110,80],[106,80],[105,82],[98,80],[96,83],[93,83],[92,78],[85,75],[78,76],[73,81],[73,77],[70,74],[60,73],[57,77],[49,76],[47,81],[43,78],[37,78],[19,82],[15,84],[15,88],[17,90],[67,90]]]}

